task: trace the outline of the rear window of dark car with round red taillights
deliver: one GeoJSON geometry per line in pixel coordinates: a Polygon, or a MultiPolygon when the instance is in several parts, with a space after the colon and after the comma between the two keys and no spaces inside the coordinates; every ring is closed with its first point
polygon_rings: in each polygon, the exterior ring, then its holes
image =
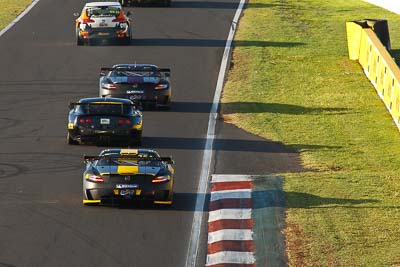
{"type": "Polygon", "coordinates": [[[77,106],[77,111],[86,115],[131,115],[133,107],[121,104],[82,104],[77,106]]]}

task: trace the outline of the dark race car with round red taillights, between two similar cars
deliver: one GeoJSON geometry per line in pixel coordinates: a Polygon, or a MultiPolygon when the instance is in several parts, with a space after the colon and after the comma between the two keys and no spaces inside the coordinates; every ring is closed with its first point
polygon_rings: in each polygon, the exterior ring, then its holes
{"type": "Polygon", "coordinates": [[[142,113],[128,99],[83,98],[69,105],[68,144],[119,141],[140,144],[142,113]]]}

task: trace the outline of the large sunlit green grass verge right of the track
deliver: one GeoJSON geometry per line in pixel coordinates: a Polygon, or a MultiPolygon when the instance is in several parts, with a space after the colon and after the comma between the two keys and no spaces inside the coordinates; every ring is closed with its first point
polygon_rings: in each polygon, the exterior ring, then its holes
{"type": "Polygon", "coordinates": [[[399,55],[400,17],[356,0],[250,0],[235,37],[224,118],[307,169],[282,174],[292,266],[400,264],[400,134],[347,56],[363,18],[389,20],[399,55]]]}

